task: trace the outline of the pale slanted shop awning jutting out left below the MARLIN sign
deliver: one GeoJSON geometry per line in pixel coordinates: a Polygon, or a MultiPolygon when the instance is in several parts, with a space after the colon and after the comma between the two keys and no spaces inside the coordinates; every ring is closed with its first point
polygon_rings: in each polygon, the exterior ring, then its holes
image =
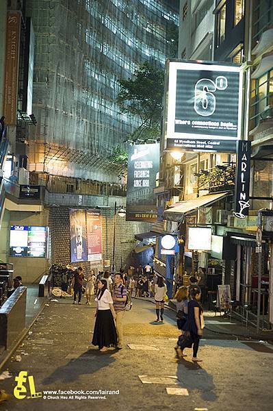
{"type": "Polygon", "coordinates": [[[179,221],[183,215],[200,207],[209,206],[211,203],[215,203],[226,197],[228,194],[229,192],[218,192],[216,194],[203,195],[194,200],[181,201],[164,212],[164,219],[169,221],[179,221]]]}

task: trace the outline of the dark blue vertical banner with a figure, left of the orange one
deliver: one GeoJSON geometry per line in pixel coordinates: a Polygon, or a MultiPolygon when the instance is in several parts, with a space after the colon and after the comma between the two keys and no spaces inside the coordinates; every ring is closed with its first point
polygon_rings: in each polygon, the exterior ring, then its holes
{"type": "Polygon", "coordinates": [[[87,261],[86,210],[69,210],[71,262],[87,261]]]}

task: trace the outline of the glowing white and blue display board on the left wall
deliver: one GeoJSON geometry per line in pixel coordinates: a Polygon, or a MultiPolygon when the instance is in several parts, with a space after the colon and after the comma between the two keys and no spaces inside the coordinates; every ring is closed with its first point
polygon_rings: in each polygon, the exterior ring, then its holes
{"type": "Polygon", "coordinates": [[[48,227],[12,225],[10,227],[10,256],[47,258],[48,237],[48,227]]]}

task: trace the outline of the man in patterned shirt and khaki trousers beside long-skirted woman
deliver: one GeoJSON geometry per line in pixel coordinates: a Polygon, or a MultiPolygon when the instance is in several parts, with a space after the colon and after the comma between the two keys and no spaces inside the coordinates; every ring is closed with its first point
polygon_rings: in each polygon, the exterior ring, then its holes
{"type": "Polygon", "coordinates": [[[114,277],[113,301],[116,312],[116,331],[118,333],[118,349],[123,347],[123,317],[125,314],[127,288],[122,284],[122,275],[116,273],[114,277]]]}

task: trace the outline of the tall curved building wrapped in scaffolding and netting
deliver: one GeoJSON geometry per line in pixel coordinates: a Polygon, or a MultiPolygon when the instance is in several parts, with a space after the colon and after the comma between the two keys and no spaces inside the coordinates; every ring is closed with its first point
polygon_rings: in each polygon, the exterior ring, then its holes
{"type": "MultiPolygon", "coordinates": [[[[119,112],[118,79],[164,67],[178,0],[28,0],[36,35],[29,169],[111,181],[107,158],[138,119],[119,112]]],[[[115,177],[116,176],[116,177],[115,177]]]]}

